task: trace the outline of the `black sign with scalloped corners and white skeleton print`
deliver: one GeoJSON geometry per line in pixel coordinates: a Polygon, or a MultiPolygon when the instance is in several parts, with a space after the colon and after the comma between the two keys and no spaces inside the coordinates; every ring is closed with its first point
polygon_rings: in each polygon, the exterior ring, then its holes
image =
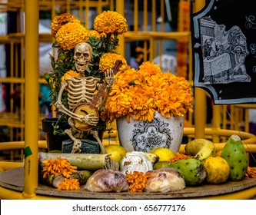
{"type": "Polygon", "coordinates": [[[256,103],[254,0],[210,0],[191,18],[194,86],[214,104],[256,103]]]}

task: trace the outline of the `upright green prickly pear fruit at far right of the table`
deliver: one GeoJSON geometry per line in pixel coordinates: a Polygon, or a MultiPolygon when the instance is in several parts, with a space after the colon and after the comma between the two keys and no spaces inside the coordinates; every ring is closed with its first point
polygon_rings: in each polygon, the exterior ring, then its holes
{"type": "Polygon", "coordinates": [[[248,159],[241,138],[233,134],[224,145],[221,157],[227,160],[230,167],[228,180],[242,180],[248,168],[248,159]]]}

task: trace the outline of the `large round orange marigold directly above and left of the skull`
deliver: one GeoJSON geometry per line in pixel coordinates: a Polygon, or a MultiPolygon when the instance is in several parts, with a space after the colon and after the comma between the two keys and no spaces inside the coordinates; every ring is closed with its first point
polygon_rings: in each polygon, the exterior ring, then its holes
{"type": "Polygon", "coordinates": [[[61,48],[69,50],[81,41],[88,41],[88,31],[78,20],[68,22],[58,30],[56,41],[61,48]]]}

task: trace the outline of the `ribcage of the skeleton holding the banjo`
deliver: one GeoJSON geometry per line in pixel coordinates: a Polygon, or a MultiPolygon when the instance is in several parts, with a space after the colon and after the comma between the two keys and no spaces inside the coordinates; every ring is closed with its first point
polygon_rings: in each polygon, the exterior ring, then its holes
{"type": "Polygon", "coordinates": [[[95,95],[97,83],[100,79],[94,77],[66,78],[68,83],[68,105],[74,109],[80,103],[89,103],[95,95]]]}

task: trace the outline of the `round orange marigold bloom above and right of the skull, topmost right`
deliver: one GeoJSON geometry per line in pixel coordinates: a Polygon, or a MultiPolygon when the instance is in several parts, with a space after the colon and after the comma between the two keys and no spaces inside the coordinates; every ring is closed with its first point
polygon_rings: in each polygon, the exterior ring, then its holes
{"type": "Polygon", "coordinates": [[[118,12],[105,11],[95,18],[94,28],[99,33],[121,35],[128,30],[128,25],[118,12]]]}

